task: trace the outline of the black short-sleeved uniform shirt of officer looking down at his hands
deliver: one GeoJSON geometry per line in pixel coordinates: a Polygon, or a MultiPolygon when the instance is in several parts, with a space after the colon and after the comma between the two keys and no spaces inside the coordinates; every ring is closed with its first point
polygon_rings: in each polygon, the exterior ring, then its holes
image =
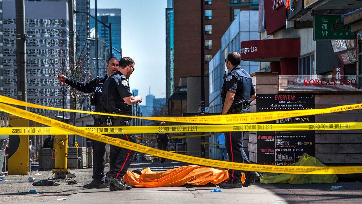
{"type": "Polygon", "coordinates": [[[101,107],[106,113],[131,115],[132,106],[123,98],[132,96],[130,85],[125,76],[117,71],[110,76],[103,85],[101,107]]]}

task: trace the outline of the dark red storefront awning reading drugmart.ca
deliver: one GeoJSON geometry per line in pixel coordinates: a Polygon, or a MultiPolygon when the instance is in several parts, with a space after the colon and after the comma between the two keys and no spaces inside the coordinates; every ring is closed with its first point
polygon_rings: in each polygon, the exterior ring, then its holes
{"type": "Polygon", "coordinates": [[[249,40],[240,43],[241,60],[273,62],[300,56],[300,38],[249,40]]]}

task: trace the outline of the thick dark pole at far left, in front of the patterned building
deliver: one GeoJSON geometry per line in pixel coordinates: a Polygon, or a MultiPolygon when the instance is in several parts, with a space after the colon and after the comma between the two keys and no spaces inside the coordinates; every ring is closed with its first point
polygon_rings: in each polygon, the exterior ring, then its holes
{"type": "MultiPolygon", "coordinates": [[[[25,34],[25,3],[15,1],[16,19],[16,74],[17,99],[26,102],[26,34],[25,34]]],[[[26,110],[26,107],[18,106],[26,110]]]]}

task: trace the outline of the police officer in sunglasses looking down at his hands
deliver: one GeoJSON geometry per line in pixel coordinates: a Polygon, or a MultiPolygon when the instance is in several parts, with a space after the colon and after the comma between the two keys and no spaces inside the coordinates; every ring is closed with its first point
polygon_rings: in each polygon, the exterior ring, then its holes
{"type": "MultiPolygon", "coordinates": [[[[139,95],[134,97],[132,95],[127,80],[134,71],[134,67],[135,62],[132,58],[123,57],[119,60],[117,72],[104,82],[101,94],[101,107],[105,113],[132,115],[132,105],[142,102],[142,97],[139,95]]],[[[106,116],[103,118],[104,126],[130,126],[130,122],[131,118],[127,117],[106,116]]],[[[133,134],[113,134],[109,136],[137,143],[136,137],[133,134]]],[[[123,183],[123,176],[126,174],[135,155],[135,151],[118,146],[110,146],[110,169],[106,175],[106,179],[110,182],[110,191],[130,190],[132,188],[123,183]]]]}

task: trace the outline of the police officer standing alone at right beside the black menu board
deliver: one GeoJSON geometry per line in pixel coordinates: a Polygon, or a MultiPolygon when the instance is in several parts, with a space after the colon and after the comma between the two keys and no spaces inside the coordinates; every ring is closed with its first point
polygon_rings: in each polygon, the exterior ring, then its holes
{"type": "MultiPolygon", "coordinates": [[[[240,66],[241,57],[237,52],[228,53],[225,59],[226,67],[231,70],[224,76],[221,91],[222,115],[248,113],[250,103],[256,98],[255,89],[250,75],[240,66]]],[[[243,150],[243,132],[225,132],[225,146],[230,162],[250,163],[243,150]]],[[[220,188],[241,188],[253,184],[260,178],[257,172],[244,171],[245,182],[241,183],[242,172],[229,169],[227,183],[220,184],[220,188]]]]}

